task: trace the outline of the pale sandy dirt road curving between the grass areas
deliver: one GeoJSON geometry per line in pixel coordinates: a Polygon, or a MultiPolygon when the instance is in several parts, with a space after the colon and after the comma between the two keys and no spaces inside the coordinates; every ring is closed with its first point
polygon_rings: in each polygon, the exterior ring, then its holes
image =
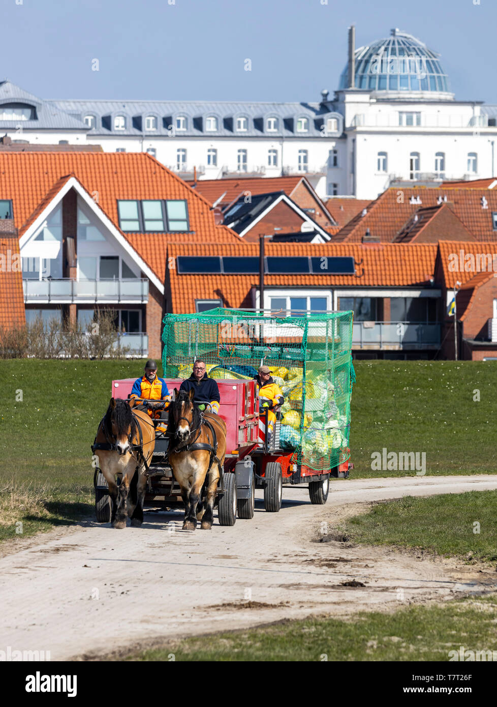
{"type": "Polygon", "coordinates": [[[174,511],[146,513],[140,528],[83,522],[20,538],[0,559],[0,649],[96,658],[282,618],[497,590],[488,566],[319,542],[323,523],[371,501],[489,489],[497,476],[336,480],[325,506],[311,506],[306,487],[285,487],[280,513],[266,513],[258,491],[252,520],[220,527],[215,518],[210,532],[182,531],[174,511]],[[349,580],[364,586],[342,585],[349,580]]]}

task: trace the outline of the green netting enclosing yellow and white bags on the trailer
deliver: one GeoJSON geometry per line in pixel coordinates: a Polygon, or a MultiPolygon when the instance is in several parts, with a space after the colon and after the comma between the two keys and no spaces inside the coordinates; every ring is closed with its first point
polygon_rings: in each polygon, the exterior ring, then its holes
{"type": "Polygon", "coordinates": [[[349,459],[353,312],[270,315],[218,308],[164,317],[166,378],[188,378],[203,358],[210,378],[246,378],[272,368],[285,402],[280,445],[293,460],[327,470],[349,459]]]}

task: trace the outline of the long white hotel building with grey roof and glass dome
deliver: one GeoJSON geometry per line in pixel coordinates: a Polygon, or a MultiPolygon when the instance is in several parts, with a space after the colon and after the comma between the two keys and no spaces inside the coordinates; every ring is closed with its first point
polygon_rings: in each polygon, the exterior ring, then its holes
{"type": "Polygon", "coordinates": [[[40,100],[0,83],[0,135],[152,153],[181,177],[302,174],[320,197],[496,174],[497,105],[455,100],[438,54],[390,37],[354,49],[319,103],[40,100]]]}

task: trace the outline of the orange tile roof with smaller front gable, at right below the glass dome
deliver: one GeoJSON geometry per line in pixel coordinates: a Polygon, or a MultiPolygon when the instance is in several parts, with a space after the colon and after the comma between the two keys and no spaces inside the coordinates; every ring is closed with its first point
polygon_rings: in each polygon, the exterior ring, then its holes
{"type": "Polygon", "coordinates": [[[392,187],[371,201],[366,207],[366,216],[361,213],[354,216],[335,236],[335,243],[360,243],[366,228],[383,243],[391,243],[421,206],[436,206],[438,197],[444,196],[448,197],[455,215],[476,240],[497,240],[497,230],[493,230],[492,223],[492,211],[497,211],[497,190],[392,187]],[[419,197],[421,204],[410,204],[411,197],[419,197]],[[482,197],[486,199],[487,209],[481,207],[482,197]]]}

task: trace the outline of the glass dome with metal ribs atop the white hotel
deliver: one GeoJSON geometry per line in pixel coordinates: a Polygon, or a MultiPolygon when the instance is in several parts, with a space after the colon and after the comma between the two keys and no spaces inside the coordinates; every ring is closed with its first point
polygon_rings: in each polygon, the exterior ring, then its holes
{"type": "MultiPolygon", "coordinates": [[[[447,74],[432,52],[416,37],[392,30],[387,39],[378,40],[355,51],[355,88],[389,93],[438,93],[453,98],[447,74]]],[[[348,69],[340,76],[340,89],[348,88],[348,69]]]]}

